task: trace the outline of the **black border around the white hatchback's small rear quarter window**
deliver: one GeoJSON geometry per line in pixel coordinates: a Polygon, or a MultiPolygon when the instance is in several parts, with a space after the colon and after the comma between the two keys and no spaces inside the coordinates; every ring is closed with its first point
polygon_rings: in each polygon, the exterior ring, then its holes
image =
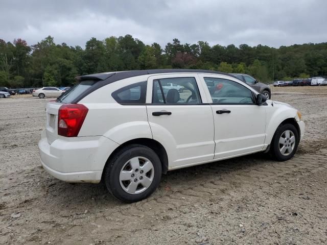
{"type": "Polygon", "coordinates": [[[133,83],[133,84],[130,84],[130,85],[127,85],[125,87],[122,87],[120,89],[117,89],[115,91],[113,91],[111,93],[111,96],[113,97],[113,99],[121,104],[121,105],[124,105],[124,106],[139,106],[139,105],[145,105],[146,104],[146,94],[147,94],[147,81],[143,81],[143,82],[138,82],[138,83],[133,83]],[[134,88],[134,87],[141,87],[141,94],[139,96],[139,100],[135,100],[135,101],[132,101],[132,100],[126,100],[126,102],[122,102],[122,100],[118,97],[118,94],[122,91],[125,91],[127,89],[130,89],[130,88],[134,88]]]}

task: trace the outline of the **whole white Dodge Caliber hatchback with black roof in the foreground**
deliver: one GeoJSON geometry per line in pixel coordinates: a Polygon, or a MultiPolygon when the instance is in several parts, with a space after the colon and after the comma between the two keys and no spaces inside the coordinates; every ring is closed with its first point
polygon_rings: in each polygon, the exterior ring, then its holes
{"type": "Polygon", "coordinates": [[[41,163],[63,181],[103,180],[124,202],[147,198],[168,170],[256,152],[288,160],[305,132],[299,111],[221,72],[138,70],[77,80],[46,104],[41,163]]]}

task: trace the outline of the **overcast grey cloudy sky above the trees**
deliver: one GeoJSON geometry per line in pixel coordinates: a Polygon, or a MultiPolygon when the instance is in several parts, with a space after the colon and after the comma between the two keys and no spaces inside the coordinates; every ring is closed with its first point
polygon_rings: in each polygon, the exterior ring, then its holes
{"type": "Polygon", "coordinates": [[[1,0],[0,39],[85,46],[131,34],[162,48],[182,43],[281,45],[327,42],[326,0],[1,0]]]}

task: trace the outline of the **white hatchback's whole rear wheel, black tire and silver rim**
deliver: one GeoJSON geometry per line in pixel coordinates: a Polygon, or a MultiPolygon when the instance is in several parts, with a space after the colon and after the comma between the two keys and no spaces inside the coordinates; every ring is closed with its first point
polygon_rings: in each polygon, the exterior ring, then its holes
{"type": "Polygon", "coordinates": [[[161,162],[150,148],[128,145],[116,153],[104,170],[109,192],[118,200],[133,203],[151,195],[161,179],[161,162]]]}

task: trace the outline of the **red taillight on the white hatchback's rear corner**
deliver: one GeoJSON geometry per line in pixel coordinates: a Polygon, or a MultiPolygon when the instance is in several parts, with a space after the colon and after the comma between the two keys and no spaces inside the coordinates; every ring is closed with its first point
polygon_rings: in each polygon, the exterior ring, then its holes
{"type": "Polygon", "coordinates": [[[77,137],[88,109],[81,104],[65,104],[58,112],[58,135],[77,137]]]}

